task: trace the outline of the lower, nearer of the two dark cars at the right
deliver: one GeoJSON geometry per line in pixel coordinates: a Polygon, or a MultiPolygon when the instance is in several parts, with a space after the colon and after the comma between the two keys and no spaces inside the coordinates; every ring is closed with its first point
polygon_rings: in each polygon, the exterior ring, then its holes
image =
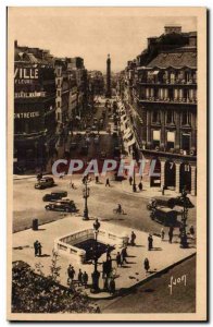
{"type": "Polygon", "coordinates": [[[167,207],[155,207],[152,208],[150,218],[152,220],[158,220],[164,226],[175,226],[177,222],[177,217],[181,216],[183,211],[177,211],[170,209],[167,207]]]}

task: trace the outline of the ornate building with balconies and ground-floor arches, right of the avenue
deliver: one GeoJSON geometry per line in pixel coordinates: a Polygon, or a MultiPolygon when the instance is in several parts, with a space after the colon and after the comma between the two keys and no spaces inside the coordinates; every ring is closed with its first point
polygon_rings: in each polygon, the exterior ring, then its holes
{"type": "Polygon", "coordinates": [[[197,189],[197,33],[165,26],[160,37],[128,61],[117,90],[125,104],[123,120],[130,130],[128,150],[156,160],[160,178],[151,186],[197,189]]]}

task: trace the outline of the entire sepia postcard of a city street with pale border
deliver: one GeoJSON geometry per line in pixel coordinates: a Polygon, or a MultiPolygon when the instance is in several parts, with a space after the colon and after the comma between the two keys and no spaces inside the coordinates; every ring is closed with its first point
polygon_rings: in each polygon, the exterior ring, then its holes
{"type": "Polygon", "coordinates": [[[206,9],[8,8],[8,319],[206,322],[206,9]]]}

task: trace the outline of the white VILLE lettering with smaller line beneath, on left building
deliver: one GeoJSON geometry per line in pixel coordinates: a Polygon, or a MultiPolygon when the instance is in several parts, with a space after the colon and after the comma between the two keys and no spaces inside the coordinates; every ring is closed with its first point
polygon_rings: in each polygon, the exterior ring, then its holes
{"type": "Polygon", "coordinates": [[[34,84],[38,80],[38,69],[33,66],[16,66],[14,72],[15,84],[34,84]]]}

